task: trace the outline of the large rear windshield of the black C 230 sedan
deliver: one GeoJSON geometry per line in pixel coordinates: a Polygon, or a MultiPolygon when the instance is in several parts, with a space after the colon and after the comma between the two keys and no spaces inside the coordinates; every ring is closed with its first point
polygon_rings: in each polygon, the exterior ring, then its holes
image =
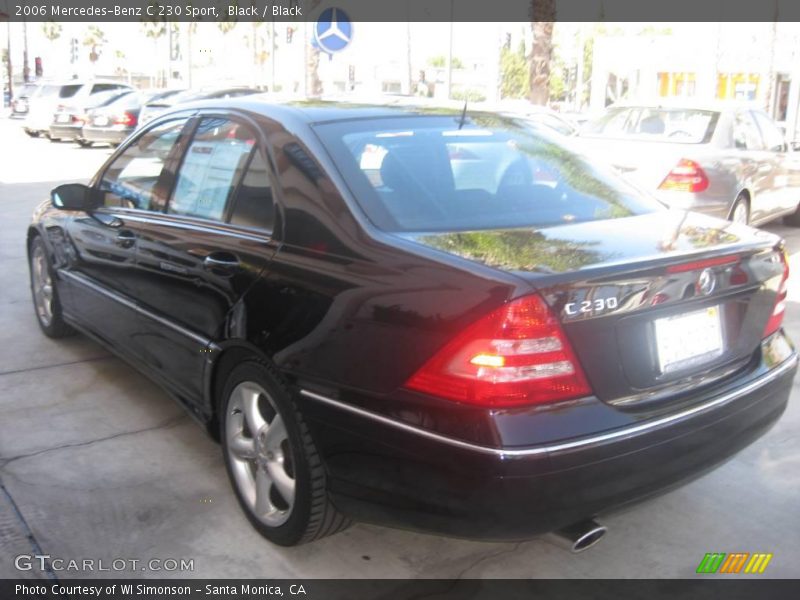
{"type": "Polygon", "coordinates": [[[546,135],[495,116],[316,126],[364,212],[387,231],[547,227],[663,210],[546,135]]]}

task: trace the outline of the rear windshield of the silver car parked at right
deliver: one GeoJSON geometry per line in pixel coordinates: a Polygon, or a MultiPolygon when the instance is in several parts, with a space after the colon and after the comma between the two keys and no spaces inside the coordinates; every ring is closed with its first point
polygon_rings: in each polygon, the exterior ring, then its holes
{"type": "Polygon", "coordinates": [[[587,136],[700,144],[711,140],[719,113],[691,108],[625,107],[609,109],[587,122],[587,136]]]}

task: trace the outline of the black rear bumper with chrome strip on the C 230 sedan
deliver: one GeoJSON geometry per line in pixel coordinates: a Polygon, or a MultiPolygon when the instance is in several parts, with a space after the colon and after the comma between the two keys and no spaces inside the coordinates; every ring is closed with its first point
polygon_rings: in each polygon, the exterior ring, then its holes
{"type": "Polygon", "coordinates": [[[457,537],[525,539],[667,491],[763,435],[786,407],[797,355],[769,363],[765,353],[733,387],[680,413],[529,448],[459,445],[352,410],[339,426],[319,406],[310,420],[346,514],[457,537]]]}

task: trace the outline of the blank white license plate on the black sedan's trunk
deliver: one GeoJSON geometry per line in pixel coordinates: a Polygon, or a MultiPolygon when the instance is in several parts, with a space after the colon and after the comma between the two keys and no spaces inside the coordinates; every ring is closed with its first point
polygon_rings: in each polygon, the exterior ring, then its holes
{"type": "Polygon", "coordinates": [[[658,366],[662,373],[696,366],[722,354],[719,306],[656,319],[658,366]]]}

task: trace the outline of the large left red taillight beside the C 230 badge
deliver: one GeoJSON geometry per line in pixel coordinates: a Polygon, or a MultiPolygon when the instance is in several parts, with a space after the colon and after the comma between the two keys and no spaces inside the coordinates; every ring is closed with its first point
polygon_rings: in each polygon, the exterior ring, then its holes
{"type": "Polygon", "coordinates": [[[486,407],[543,404],[592,391],[561,324],[537,295],[467,327],[405,387],[486,407]]]}

